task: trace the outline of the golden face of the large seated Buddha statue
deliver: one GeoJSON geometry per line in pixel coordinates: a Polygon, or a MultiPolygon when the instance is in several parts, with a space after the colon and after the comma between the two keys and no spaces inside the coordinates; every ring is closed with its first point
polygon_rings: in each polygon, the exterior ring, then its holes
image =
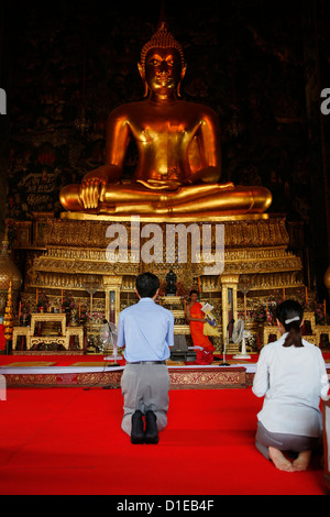
{"type": "Polygon", "coordinates": [[[175,95],[183,77],[176,48],[152,48],[145,56],[145,80],[152,95],[175,95]]]}

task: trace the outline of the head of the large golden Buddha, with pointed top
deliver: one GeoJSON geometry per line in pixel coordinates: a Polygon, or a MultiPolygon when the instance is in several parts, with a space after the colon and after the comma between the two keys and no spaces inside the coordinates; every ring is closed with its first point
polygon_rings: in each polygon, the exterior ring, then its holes
{"type": "Polygon", "coordinates": [[[143,46],[138,66],[144,82],[144,97],[150,91],[180,96],[180,84],[186,73],[184,51],[165,22],[160,24],[155,34],[143,46]]]}

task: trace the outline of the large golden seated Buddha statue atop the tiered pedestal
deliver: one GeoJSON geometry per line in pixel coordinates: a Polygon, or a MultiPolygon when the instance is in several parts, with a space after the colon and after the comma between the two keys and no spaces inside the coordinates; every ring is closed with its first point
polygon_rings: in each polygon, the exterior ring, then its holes
{"type": "Polygon", "coordinates": [[[218,116],[180,99],[186,64],[180,44],[161,23],[144,45],[139,72],[146,99],[116,108],[108,118],[105,165],[86,174],[81,185],[61,190],[72,212],[143,216],[224,216],[262,213],[272,202],[264,187],[220,184],[218,116]],[[125,152],[133,138],[139,165],[121,182],[125,152]]]}

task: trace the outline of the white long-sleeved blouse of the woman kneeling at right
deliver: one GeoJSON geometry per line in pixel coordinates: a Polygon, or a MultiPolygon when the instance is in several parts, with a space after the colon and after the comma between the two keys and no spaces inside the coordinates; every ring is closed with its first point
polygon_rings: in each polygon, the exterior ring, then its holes
{"type": "Polygon", "coordinates": [[[283,346],[287,334],[265,345],[260,354],[252,391],[265,396],[257,419],[271,432],[319,437],[320,398],[327,398],[329,380],[320,349],[283,346]]]}

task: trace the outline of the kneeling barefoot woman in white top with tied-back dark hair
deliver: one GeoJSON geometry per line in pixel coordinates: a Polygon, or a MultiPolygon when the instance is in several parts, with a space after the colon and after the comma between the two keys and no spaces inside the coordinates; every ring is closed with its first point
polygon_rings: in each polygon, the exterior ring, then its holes
{"type": "Polygon", "coordinates": [[[320,442],[320,397],[328,398],[329,382],[320,350],[301,338],[302,307],[286,300],[276,309],[278,341],[260,354],[253,393],[265,396],[257,415],[255,444],[282,471],[306,470],[320,442]],[[293,462],[284,455],[297,452],[293,462]]]}

